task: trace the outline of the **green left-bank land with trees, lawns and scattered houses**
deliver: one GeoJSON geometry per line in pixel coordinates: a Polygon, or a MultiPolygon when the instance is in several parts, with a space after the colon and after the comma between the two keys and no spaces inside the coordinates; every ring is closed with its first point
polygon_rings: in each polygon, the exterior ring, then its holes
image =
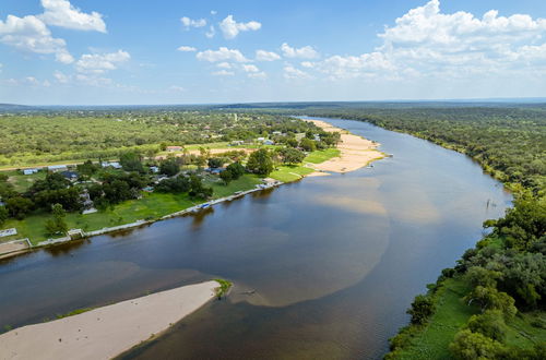
{"type": "Polygon", "coordinates": [[[337,133],[283,116],[119,111],[90,118],[90,112],[0,118],[11,144],[0,163],[10,158],[10,164],[28,166],[88,156],[68,171],[73,179],[39,167],[33,175],[0,172],[0,226],[17,229],[17,235],[2,241],[28,238],[36,244],[71,228],[90,231],[158,219],[252,189],[268,176],[283,182],[298,180],[313,171],[305,164],[339,155],[337,133]],[[23,140],[20,127],[25,121],[40,125],[25,128],[23,140]],[[85,135],[92,130],[90,123],[98,127],[96,136],[85,135]],[[78,136],[69,136],[70,132],[78,136]],[[194,144],[202,141],[211,142],[194,144]],[[175,152],[165,152],[173,145],[175,152]],[[104,151],[92,151],[95,147],[104,151]],[[29,158],[31,153],[36,156],[29,158]],[[115,163],[102,157],[115,154],[115,163]],[[22,163],[25,159],[29,163],[22,163]],[[90,207],[98,212],[84,215],[90,207]]]}

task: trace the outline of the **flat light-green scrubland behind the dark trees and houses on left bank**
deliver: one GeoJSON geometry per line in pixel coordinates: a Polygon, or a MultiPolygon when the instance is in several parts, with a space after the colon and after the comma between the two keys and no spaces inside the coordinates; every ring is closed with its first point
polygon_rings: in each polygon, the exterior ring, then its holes
{"type": "Polygon", "coordinates": [[[0,166],[149,153],[168,145],[206,144],[305,133],[313,124],[276,115],[212,111],[67,111],[0,117],[0,166]]]}

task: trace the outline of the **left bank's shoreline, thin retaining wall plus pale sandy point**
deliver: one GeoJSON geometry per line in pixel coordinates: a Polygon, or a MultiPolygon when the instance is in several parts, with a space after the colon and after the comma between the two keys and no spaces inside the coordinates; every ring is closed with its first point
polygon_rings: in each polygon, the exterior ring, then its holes
{"type": "MultiPolygon", "coordinates": [[[[314,171],[308,175],[299,175],[300,178],[294,181],[299,181],[304,178],[312,178],[312,177],[323,177],[323,176],[329,176],[331,172],[337,172],[337,173],[346,173],[351,171],[358,170],[363,167],[366,167],[369,165],[371,161],[382,159],[387,157],[384,153],[379,152],[376,149],[380,144],[369,141],[367,139],[364,139],[361,136],[355,135],[344,129],[334,127],[325,121],[322,120],[310,120],[310,119],[302,119],[304,121],[310,121],[313,122],[317,127],[321,128],[324,131],[336,131],[341,132],[341,144],[337,145],[336,148],[340,149],[340,156],[333,157],[331,159],[328,159],[323,163],[320,164],[305,164],[305,166],[309,167],[310,169],[313,169],[314,171]]],[[[293,181],[290,181],[293,182],[293,181]]],[[[253,193],[257,191],[262,191],[266,190],[270,188],[275,188],[278,185],[284,184],[285,182],[276,180],[275,182],[270,182],[266,184],[258,184],[256,188],[247,190],[247,191],[241,191],[239,193],[234,193],[228,196],[219,197],[219,199],[214,199],[210,201],[205,201],[203,203],[200,203],[198,205],[167,214],[164,216],[161,216],[156,219],[151,219],[151,220],[136,220],[133,223],[129,224],[123,224],[123,225],[118,225],[114,227],[106,227],[97,230],[92,230],[92,231],[83,231],[82,229],[71,229],[71,230],[76,230],[78,233],[81,235],[78,239],[73,239],[70,236],[61,237],[61,238],[52,238],[52,239],[47,239],[45,241],[40,241],[37,244],[33,245],[28,239],[16,239],[16,240],[11,240],[9,242],[0,243],[0,248],[2,245],[7,247],[12,247],[12,243],[21,243],[21,242],[26,242],[28,245],[17,248],[16,250],[11,250],[7,252],[0,252],[0,260],[4,259],[10,259],[14,257],[17,255],[23,255],[25,253],[29,253],[34,250],[47,248],[47,247],[52,247],[52,245],[58,245],[58,244],[64,244],[69,243],[72,241],[81,241],[85,240],[95,236],[100,236],[100,235],[106,235],[106,233],[116,233],[118,231],[123,231],[127,229],[133,229],[133,228],[139,228],[142,226],[146,225],[152,225],[157,221],[162,221],[168,218],[173,217],[178,217],[178,216],[185,216],[189,214],[193,214],[197,212],[200,212],[202,209],[209,208],[212,205],[227,202],[227,201],[233,201],[239,197],[244,197],[245,195],[249,193],[253,193]]]]}

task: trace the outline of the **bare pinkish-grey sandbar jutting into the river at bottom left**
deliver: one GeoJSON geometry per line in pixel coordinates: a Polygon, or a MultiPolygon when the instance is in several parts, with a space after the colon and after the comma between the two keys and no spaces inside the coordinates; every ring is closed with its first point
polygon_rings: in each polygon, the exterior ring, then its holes
{"type": "Polygon", "coordinates": [[[0,335],[4,359],[111,359],[214,298],[216,281],[182,286],[0,335]]]}

